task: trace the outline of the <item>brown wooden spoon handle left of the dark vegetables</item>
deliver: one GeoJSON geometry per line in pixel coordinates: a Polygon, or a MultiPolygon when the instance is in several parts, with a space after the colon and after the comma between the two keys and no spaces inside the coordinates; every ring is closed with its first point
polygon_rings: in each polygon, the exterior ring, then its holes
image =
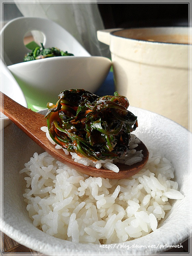
{"type": "Polygon", "coordinates": [[[0,104],[0,111],[39,144],[42,134],[40,128],[47,124],[44,116],[25,108],[2,92],[0,92],[0,98],[3,102],[0,104]]]}

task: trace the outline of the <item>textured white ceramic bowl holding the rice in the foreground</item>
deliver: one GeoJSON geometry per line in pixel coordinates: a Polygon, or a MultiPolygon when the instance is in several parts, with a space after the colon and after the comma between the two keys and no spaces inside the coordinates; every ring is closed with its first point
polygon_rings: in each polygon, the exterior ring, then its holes
{"type": "MultiPolygon", "coordinates": [[[[115,245],[114,248],[104,248],[100,245],[75,244],[61,240],[35,228],[29,219],[24,203],[25,181],[19,171],[24,168],[24,163],[29,161],[34,152],[41,153],[42,149],[14,124],[4,130],[4,226],[1,212],[0,229],[17,242],[52,256],[58,253],[65,255],[66,252],[71,253],[69,255],[80,252],[131,252],[134,256],[143,255],[143,253],[150,255],[153,252],[168,250],[166,244],[178,245],[185,241],[188,235],[191,236],[192,224],[191,220],[189,222],[188,214],[189,195],[192,193],[192,186],[189,186],[192,180],[192,170],[188,165],[188,156],[192,154],[188,152],[188,139],[192,140],[192,134],[188,134],[185,128],[158,114],[134,107],[130,107],[130,111],[138,117],[137,136],[147,147],[158,150],[171,160],[175,168],[174,180],[178,182],[178,189],[184,195],[184,199],[171,202],[172,209],[159,223],[156,231],[124,242],[124,246],[121,244],[121,247],[115,245]],[[127,250],[128,245],[129,250],[127,250]]],[[[41,113],[45,114],[46,111],[41,113]]],[[[2,197],[2,190],[0,193],[2,197]]]]}

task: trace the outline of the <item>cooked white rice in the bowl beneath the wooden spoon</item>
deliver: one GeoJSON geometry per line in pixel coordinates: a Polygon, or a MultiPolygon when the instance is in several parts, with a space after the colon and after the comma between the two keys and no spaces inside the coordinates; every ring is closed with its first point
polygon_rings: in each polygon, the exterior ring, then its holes
{"type": "Polygon", "coordinates": [[[119,243],[158,227],[171,209],[169,199],[183,199],[172,164],[150,151],[145,167],[129,179],[93,178],[47,152],[34,153],[26,173],[24,200],[35,227],[75,243],[119,243]]]}

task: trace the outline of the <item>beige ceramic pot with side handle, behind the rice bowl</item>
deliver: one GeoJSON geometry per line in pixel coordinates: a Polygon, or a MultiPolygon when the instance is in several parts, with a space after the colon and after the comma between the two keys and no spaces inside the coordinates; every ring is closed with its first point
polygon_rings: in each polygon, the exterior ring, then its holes
{"type": "Polygon", "coordinates": [[[188,128],[189,28],[153,27],[97,31],[110,46],[116,90],[131,106],[188,128]]]}

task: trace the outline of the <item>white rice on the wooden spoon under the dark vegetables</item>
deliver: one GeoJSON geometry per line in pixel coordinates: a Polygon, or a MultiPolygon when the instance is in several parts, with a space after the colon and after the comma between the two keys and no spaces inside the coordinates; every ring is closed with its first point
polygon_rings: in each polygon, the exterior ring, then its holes
{"type": "MultiPolygon", "coordinates": [[[[49,135],[48,128],[46,126],[43,126],[43,127],[41,127],[41,130],[46,132],[46,136],[49,139],[49,141],[53,145],[55,145],[56,144],[55,141],[53,141],[53,139],[49,135]]],[[[79,164],[82,164],[85,166],[90,165],[90,166],[96,167],[97,169],[100,169],[100,168],[109,169],[111,171],[118,173],[119,168],[117,167],[117,165],[115,165],[115,163],[132,165],[132,164],[142,161],[142,159],[143,159],[142,150],[136,151],[136,149],[135,149],[139,143],[140,143],[140,140],[134,134],[131,134],[131,141],[129,142],[129,146],[130,146],[129,153],[127,155],[125,155],[124,157],[113,159],[113,160],[106,159],[106,160],[92,161],[88,158],[81,157],[81,156],[77,155],[76,153],[70,152],[70,154],[72,155],[72,159],[74,160],[74,162],[77,162],[79,164]]],[[[60,145],[56,144],[55,148],[63,149],[65,154],[69,155],[69,151],[67,149],[62,148],[60,145]]]]}

